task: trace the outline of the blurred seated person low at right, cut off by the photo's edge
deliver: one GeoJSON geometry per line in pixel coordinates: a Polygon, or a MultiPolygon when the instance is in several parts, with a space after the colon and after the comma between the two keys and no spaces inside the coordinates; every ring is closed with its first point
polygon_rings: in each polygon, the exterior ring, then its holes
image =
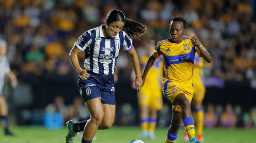
{"type": "Polygon", "coordinates": [[[244,114],[244,126],[246,128],[255,128],[256,127],[256,108],[252,107],[248,112],[244,114]]]}

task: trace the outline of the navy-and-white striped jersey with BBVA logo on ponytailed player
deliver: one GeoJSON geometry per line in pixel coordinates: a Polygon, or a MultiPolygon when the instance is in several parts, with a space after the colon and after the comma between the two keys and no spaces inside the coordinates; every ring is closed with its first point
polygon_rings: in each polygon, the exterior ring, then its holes
{"type": "Polygon", "coordinates": [[[96,74],[111,75],[119,55],[120,47],[128,52],[133,48],[132,39],[123,31],[115,38],[104,38],[102,24],[88,30],[75,41],[76,47],[85,51],[84,67],[96,74]]]}

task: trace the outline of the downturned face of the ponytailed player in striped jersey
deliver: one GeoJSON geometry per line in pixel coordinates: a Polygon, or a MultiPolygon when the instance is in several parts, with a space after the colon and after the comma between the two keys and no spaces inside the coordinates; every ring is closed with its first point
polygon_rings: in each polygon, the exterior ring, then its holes
{"type": "Polygon", "coordinates": [[[111,38],[116,37],[118,32],[122,30],[124,26],[124,22],[122,21],[115,21],[107,25],[107,35],[111,38]]]}

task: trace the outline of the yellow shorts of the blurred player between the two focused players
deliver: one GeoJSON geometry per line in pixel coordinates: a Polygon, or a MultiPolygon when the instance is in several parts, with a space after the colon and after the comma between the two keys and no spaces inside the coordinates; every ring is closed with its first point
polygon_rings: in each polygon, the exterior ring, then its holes
{"type": "Polygon", "coordinates": [[[160,88],[143,86],[138,92],[138,102],[139,105],[146,105],[150,109],[161,110],[163,103],[160,88]]]}

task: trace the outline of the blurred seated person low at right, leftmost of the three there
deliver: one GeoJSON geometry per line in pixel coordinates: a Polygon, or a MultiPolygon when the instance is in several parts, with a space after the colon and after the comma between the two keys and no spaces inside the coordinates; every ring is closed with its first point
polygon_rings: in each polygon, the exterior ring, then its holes
{"type": "Polygon", "coordinates": [[[217,125],[217,122],[218,122],[218,117],[214,111],[213,104],[209,103],[204,113],[204,127],[213,128],[214,126],[217,125]]]}

